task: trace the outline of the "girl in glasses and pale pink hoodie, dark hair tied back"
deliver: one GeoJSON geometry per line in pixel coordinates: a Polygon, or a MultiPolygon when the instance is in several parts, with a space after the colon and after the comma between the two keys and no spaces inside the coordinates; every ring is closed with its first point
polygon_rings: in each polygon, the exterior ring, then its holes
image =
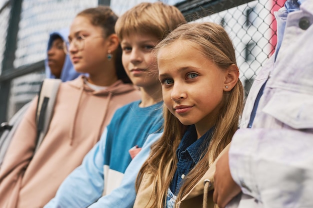
{"type": "Polygon", "coordinates": [[[74,18],[64,47],[75,70],[88,76],[61,83],[35,155],[37,97],[30,104],[0,169],[1,208],[43,207],[99,140],[115,110],[140,99],[121,64],[116,20],[106,6],[85,9],[74,18]]]}

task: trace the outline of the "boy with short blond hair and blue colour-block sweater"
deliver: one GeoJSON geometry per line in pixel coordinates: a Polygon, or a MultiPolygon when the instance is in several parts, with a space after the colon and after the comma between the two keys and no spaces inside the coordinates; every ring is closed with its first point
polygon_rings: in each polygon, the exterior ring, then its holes
{"type": "Polygon", "coordinates": [[[132,207],[136,175],[163,125],[161,85],[152,49],[182,23],[181,12],[162,2],[140,3],[118,18],[115,32],[122,48],[122,64],[139,87],[141,100],[116,111],[100,141],[44,208],[132,207]],[[135,165],[123,177],[132,158],[135,165]]]}

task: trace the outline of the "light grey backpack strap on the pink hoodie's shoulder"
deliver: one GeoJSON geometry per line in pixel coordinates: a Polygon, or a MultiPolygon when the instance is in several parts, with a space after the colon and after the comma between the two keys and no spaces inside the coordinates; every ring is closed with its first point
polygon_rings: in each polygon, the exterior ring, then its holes
{"type": "Polygon", "coordinates": [[[36,110],[37,142],[34,153],[48,131],[60,83],[60,79],[44,79],[41,84],[36,110]]]}

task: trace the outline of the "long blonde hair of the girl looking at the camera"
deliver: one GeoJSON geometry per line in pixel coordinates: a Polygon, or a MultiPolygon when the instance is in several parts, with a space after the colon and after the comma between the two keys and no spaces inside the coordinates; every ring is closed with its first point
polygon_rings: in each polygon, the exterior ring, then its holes
{"type": "MultiPolygon", "coordinates": [[[[224,28],[218,24],[202,22],[181,25],[156,46],[156,51],[177,40],[191,42],[191,46],[201,51],[204,57],[213,61],[221,70],[227,69],[232,64],[236,65],[231,39],[224,28]]],[[[209,165],[229,144],[237,130],[243,106],[243,87],[239,79],[230,91],[223,92],[222,103],[210,144],[202,153],[200,161],[185,176],[176,203],[202,178],[209,165]]],[[[163,135],[152,145],[150,156],[141,167],[136,181],[136,190],[138,190],[144,173],[155,177],[155,193],[153,193],[155,201],[151,208],[164,207],[167,189],[176,171],[176,149],[187,128],[166,107],[163,109],[163,115],[163,135]],[[168,165],[171,166],[169,174],[165,173],[168,165]]]]}

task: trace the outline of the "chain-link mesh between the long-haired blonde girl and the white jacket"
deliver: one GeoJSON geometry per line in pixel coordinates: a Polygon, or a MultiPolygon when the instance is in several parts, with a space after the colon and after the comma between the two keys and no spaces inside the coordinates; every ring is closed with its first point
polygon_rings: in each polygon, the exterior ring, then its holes
{"type": "Polygon", "coordinates": [[[258,71],[274,52],[276,22],[273,8],[282,5],[273,0],[254,0],[195,20],[219,23],[228,32],[246,94],[258,71]]]}

